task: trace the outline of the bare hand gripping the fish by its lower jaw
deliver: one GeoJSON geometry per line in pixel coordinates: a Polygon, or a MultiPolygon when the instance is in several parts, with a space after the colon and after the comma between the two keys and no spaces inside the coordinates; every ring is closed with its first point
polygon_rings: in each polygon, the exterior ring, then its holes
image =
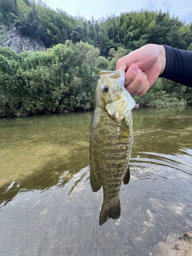
{"type": "Polygon", "coordinates": [[[117,61],[116,69],[126,72],[125,88],[132,94],[144,95],[165,69],[165,49],[145,45],[117,61]]]}

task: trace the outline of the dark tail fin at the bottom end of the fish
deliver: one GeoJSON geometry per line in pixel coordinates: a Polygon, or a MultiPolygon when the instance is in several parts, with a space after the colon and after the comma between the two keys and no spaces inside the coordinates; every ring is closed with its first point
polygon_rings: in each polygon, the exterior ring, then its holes
{"type": "Polygon", "coordinates": [[[101,226],[104,224],[108,219],[117,220],[121,215],[121,205],[120,201],[118,200],[116,205],[110,207],[109,204],[102,204],[100,218],[99,218],[99,225],[101,226]]]}

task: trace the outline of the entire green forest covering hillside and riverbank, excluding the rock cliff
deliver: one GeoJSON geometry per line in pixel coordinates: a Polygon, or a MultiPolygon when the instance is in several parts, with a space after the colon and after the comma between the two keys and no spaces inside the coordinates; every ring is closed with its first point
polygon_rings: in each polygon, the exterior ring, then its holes
{"type": "MultiPolygon", "coordinates": [[[[86,20],[40,0],[0,0],[0,25],[47,47],[20,54],[0,47],[0,114],[90,109],[99,71],[114,70],[120,57],[146,44],[192,50],[192,24],[161,10],[86,20]]],[[[159,78],[144,96],[133,97],[144,106],[185,105],[192,89],[159,78]]]]}

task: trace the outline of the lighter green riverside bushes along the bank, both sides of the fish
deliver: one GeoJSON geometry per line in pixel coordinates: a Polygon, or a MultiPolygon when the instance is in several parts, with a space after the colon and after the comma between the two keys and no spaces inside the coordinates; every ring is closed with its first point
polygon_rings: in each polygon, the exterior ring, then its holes
{"type": "MultiPolygon", "coordinates": [[[[108,58],[82,41],[70,40],[47,52],[16,54],[9,47],[0,48],[0,110],[40,111],[48,109],[89,109],[94,105],[94,92],[101,69],[114,70],[115,62],[125,49],[111,49],[108,58]],[[115,61],[114,61],[115,60],[115,61]]],[[[166,79],[158,79],[136,102],[147,106],[182,105],[192,102],[191,88],[166,79]]]]}

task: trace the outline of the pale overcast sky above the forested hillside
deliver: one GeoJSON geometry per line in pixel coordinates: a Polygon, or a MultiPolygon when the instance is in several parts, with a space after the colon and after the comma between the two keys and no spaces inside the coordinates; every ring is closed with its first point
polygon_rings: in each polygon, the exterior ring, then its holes
{"type": "Polygon", "coordinates": [[[47,0],[47,5],[66,11],[72,16],[86,19],[106,17],[107,14],[119,16],[121,12],[146,10],[169,11],[170,15],[179,16],[186,23],[192,23],[192,0],[47,0]]]}

